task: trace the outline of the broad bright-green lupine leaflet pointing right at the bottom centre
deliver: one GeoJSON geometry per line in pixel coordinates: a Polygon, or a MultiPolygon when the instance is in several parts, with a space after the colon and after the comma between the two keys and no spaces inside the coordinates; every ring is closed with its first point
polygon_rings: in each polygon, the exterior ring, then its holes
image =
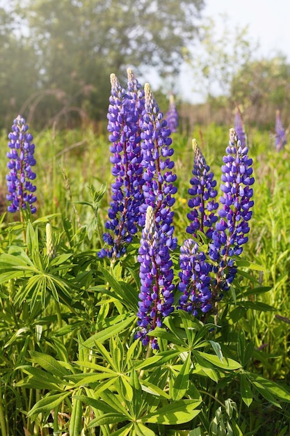
{"type": "Polygon", "coordinates": [[[139,422],[157,423],[166,426],[174,426],[191,421],[200,413],[200,410],[195,410],[200,405],[201,401],[195,400],[180,400],[170,403],[156,410],[156,412],[148,414],[138,419],[139,422]]]}

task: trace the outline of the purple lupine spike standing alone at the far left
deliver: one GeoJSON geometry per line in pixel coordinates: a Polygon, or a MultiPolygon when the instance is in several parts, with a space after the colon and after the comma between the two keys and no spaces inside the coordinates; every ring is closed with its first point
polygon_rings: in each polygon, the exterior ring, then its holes
{"type": "Polygon", "coordinates": [[[22,116],[18,115],[13,121],[12,132],[8,134],[10,151],[7,157],[10,160],[7,166],[10,171],[6,176],[8,187],[6,198],[11,202],[8,205],[8,212],[17,212],[17,210],[36,212],[33,205],[36,201],[34,194],[36,187],[31,182],[36,177],[31,169],[36,164],[35,145],[32,143],[33,136],[28,130],[29,125],[22,116]]]}

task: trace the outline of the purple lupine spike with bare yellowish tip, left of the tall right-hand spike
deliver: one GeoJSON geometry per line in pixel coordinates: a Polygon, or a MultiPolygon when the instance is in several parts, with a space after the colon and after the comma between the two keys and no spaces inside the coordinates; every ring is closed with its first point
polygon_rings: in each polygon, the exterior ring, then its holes
{"type": "Polygon", "coordinates": [[[197,238],[197,231],[201,231],[208,238],[211,238],[214,223],[218,219],[215,212],[218,209],[218,203],[215,201],[218,194],[215,189],[216,180],[214,180],[214,173],[210,171],[195,139],[193,139],[192,144],[194,152],[193,178],[190,180],[192,187],[188,189],[188,194],[191,195],[188,206],[191,211],[187,214],[191,223],[187,226],[186,232],[197,238]]]}

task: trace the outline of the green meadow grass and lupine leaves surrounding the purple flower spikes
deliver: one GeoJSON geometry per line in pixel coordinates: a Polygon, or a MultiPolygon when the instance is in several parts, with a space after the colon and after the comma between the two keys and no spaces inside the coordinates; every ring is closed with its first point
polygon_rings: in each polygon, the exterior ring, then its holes
{"type": "MultiPolygon", "coordinates": [[[[229,127],[172,134],[178,245],[191,141],[219,184],[229,127]]],[[[38,210],[23,222],[6,212],[1,135],[1,435],[290,435],[290,146],[278,153],[267,131],[248,130],[255,205],[239,272],[217,317],[174,311],[152,351],[134,339],[140,231],[124,258],[97,256],[113,182],[106,126],[31,133],[38,210]]]]}

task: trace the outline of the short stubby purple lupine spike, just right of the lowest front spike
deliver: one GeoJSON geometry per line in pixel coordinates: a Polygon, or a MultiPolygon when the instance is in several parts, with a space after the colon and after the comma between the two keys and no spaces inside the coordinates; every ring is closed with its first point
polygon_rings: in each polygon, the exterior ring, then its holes
{"type": "Polygon", "coordinates": [[[200,251],[198,242],[187,239],[180,248],[179,284],[182,292],[178,309],[183,309],[193,316],[207,313],[212,308],[211,303],[211,263],[207,262],[204,251],[200,251]]]}

